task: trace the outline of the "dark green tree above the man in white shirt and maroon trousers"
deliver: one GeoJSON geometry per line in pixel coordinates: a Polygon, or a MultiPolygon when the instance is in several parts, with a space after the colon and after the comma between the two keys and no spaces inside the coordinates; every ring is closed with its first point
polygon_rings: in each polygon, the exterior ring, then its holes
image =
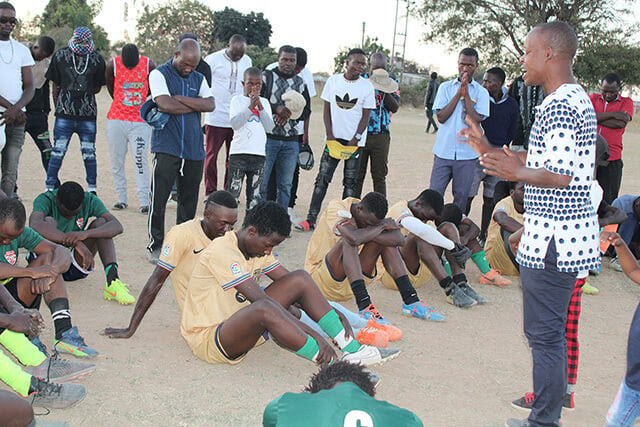
{"type": "Polygon", "coordinates": [[[247,39],[247,44],[267,47],[272,34],[271,23],[261,12],[243,15],[229,7],[215,12],[212,38],[226,44],[234,34],[243,35],[247,39]]]}

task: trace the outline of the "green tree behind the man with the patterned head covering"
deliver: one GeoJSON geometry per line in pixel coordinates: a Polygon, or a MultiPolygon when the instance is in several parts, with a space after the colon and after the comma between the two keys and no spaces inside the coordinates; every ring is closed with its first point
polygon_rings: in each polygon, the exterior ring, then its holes
{"type": "Polygon", "coordinates": [[[96,49],[104,56],[109,51],[107,32],[93,20],[102,9],[102,1],[49,0],[38,19],[40,31],[56,41],[56,47],[64,47],[77,27],[87,27],[93,35],[96,49]]]}

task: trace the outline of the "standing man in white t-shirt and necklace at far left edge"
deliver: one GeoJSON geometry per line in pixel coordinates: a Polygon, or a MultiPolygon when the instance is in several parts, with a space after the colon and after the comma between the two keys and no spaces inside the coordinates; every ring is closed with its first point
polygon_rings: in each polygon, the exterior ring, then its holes
{"type": "Polygon", "coordinates": [[[11,38],[16,28],[16,10],[8,2],[0,2],[0,138],[2,150],[2,180],[0,188],[14,194],[18,179],[18,162],[24,144],[24,107],[35,92],[32,69],[35,64],[31,52],[11,38]],[[3,129],[4,128],[4,129],[3,129]]]}

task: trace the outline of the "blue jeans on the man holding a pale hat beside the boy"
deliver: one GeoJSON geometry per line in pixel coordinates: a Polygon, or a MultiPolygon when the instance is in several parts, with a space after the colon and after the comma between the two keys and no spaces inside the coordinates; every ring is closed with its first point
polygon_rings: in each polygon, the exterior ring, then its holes
{"type": "MultiPolygon", "coordinates": [[[[291,197],[291,183],[293,182],[293,172],[298,164],[298,153],[300,147],[298,140],[280,141],[279,139],[267,138],[265,150],[264,175],[270,177],[272,170],[276,173],[276,202],[287,209],[289,198],[291,197]]],[[[269,179],[263,179],[260,185],[260,198],[267,199],[267,186],[269,179]]]]}

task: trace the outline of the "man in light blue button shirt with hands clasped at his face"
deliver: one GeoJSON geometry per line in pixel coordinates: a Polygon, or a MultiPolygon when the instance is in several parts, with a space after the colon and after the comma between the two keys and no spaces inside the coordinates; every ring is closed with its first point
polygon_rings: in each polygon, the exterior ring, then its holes
{"type": "Polygon", "coordinates": [[[478,67],[478,52],[465,48],[458,55],[458,78],[444,82],[438,88],[433,110],[442,123],[433,146],[433,168],[429,188],[444,196],[453,180],[453,203],[463,212],[473,184],[478,158],[473,148],[458,142],[458,133],[465,129],[468,115],[476,122],[489,117],[489,92],[473,80],[478,67]]]}

